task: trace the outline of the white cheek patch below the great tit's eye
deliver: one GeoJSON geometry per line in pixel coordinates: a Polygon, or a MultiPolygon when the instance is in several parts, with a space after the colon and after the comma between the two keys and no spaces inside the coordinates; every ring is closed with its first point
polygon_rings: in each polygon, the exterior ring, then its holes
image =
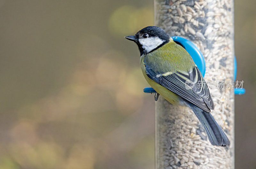
{"type": "Polygon", "coordinates": [[[149,37],[149,38],[139,39],[139,42],[145,51],[150,52],[151,50],[161,45],[164,41],[158,37],[149,37]]]}

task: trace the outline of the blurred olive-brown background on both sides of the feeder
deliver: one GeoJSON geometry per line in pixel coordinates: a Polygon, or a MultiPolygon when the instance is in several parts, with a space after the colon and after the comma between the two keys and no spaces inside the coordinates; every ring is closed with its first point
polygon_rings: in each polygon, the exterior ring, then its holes
{"type": "MultiPolygon", "coordinates": [[[[235,0],[236,168],[255,168],[256,3],[235,0]]],[[[0,168],[154,168],[135,44],[153,0],[0,0],[0,168]]]]}

